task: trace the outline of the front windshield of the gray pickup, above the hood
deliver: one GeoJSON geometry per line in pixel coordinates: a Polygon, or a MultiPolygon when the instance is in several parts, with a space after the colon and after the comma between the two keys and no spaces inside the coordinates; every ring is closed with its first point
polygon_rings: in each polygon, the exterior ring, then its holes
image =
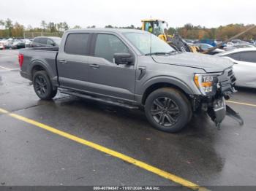
{"type": "Polygon", "coordinates": [[[137,47],[144,55],[155,52],[175,52],[173,47],[170,47],[169,44],[162,41],[154,34],[128,32],[124,33],[124,36],[126,36],[129,42],[137,47]]]}

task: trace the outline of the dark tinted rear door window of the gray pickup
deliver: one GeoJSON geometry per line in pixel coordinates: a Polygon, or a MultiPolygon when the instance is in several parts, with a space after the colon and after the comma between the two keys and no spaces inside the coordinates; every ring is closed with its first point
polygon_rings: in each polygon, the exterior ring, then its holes
{"type": "Polygon", "coordinates": [[[64,52],[72,55],[88,55],[89,34],[69,34],[64,52]]]}

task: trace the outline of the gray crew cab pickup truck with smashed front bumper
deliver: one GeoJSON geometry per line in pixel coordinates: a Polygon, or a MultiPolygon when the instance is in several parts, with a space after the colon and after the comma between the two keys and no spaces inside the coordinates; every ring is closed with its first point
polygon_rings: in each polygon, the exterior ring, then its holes
{"type": "Polygon", "coordinates": [[[177,132],[193,112],[219,127],[226,114],[242,123],[225,99],[235,91],[233,63],[176,52],[157,36],[128,29],[66,31],[60,47],[20,50],[20,74],[41,99],[61,93],[144,109],[154,128],[177,132]]]}

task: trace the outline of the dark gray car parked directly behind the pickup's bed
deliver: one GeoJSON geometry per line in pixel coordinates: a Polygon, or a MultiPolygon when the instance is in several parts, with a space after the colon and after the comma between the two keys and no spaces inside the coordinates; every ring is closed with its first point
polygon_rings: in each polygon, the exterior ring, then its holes
{"type": "Polygon", "coordinates": [[[61,38],[57,36],[39,36],[34,38],[31,47],[59,47],[61,38]]]}

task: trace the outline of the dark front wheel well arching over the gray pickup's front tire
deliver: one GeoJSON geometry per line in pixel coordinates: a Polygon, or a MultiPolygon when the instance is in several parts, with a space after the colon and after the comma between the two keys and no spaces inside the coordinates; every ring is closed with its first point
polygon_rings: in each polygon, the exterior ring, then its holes
{"type": "Polygon", "coordinates": [[[184,90],[182,90],[180,87],[178,87],[176,85],[173,85],[173,84],[169,84],[169,83],[157,83],[157,84],[149,86],[146,89],[145,93],[143,94],[142,104],[144,105],[146,103],[146,99],[148,98],[149,94],[154,92],[154,90],[157,90],[157,89],[162,88],[162,87],[173,87],[176,90],[179,90],[181,93],[183,93],[189,99],[189,95],[187,93],[185,93],[184,90]]]}

